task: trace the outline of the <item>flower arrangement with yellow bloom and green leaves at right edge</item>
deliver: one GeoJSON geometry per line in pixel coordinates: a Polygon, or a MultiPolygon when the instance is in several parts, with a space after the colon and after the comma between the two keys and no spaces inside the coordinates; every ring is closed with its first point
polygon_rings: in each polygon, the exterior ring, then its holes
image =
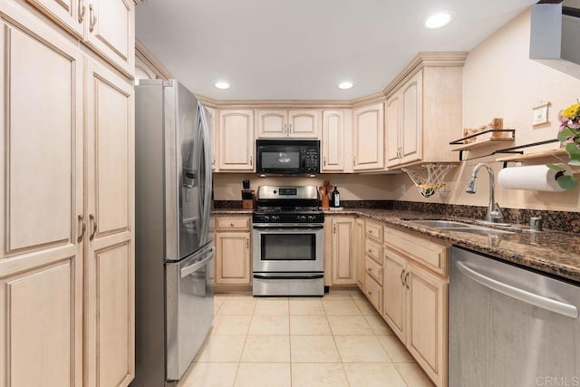
{"type": "MultiPolygon", "coordinates": [[[[565,151],[570,157],[568,165],[580,167],[580,102],[568,106],[565,110],[558,113],[560,121],[560,131],[558,140],[565,145],[565,151]]],[[[548,168],[564,172],[565,169],[554,165],[547,164],[548,168]]],[[[578,179],[575,176],[560,174],[556,181],[563,189],[574,189],[578,185],[578,179]]]]}

